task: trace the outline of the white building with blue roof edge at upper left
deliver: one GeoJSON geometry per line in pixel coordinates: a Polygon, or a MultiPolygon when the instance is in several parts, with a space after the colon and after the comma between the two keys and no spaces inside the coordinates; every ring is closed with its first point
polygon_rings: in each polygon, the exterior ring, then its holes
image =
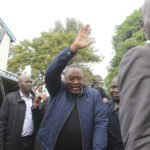
{"type": "Polygon", "coordinates": [[[0,18],[0,69],[6,70],[10,44],[16,39],[0,18]]]}

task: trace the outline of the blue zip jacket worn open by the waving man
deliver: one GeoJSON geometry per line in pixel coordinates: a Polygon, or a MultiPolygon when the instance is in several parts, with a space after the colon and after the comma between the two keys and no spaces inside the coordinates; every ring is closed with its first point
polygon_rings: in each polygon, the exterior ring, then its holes
{"type": "MultiPolygon", "coordinates": [[[[38,141],[45,150],[53,150],[59,133],[75,104],[74,96],[61,82],[61,73],[74,56],[67,47],[51,62],[46,71],[46,86],[52,96],[43,118],[38,141]]],[[[78,96],[78,113],[83,150],[105,150],[107,147],[107,113],[99,92],[84,86],[78,96]]]]}

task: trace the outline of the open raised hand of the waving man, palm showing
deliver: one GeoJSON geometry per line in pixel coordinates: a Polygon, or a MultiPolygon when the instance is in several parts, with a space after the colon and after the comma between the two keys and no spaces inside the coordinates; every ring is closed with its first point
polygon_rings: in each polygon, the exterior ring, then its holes
{"type": "Polygon", "coordinates": [[[78,33],[75,41],[71,45],[70,49],[76,52],[79,49],[88,47],[91,43],[93,43],[93,40],[88,40],[90,33],[91,33],[90,25],[83,26],[80,32],[78,33]]]}

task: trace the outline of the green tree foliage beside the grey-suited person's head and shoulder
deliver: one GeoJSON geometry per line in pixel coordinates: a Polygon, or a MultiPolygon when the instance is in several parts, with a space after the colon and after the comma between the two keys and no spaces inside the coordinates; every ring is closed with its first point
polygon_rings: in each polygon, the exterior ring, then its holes
{"type": "Polygon", "coordinates": [[[144,45],[145,35],[140,30],[141,9],[134,11],[125,21],[116,26],[115,35],[112,38],[114,57],[108,66],[108,75],[105,78],[107,91],[111,80],[118,74],[118,67],[123,55],[131,48],[144,45]]]}

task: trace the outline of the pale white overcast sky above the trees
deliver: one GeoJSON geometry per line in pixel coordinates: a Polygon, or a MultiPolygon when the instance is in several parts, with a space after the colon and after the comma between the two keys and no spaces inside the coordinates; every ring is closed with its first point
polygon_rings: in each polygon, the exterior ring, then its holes
{"type": "Polygon", "coordinates": [[[92,64],[94,74],[105,78],[107,66],[113,56],[112,36],[115,26],[121,24],[144,0],[3,0],[0,18],[15,36],[17,42],[32,40],[40,33],[53,28],[56,20],[65,23],[66,18],[76,18],[91,25],[97,55],[104,57],[92,64]]]}

